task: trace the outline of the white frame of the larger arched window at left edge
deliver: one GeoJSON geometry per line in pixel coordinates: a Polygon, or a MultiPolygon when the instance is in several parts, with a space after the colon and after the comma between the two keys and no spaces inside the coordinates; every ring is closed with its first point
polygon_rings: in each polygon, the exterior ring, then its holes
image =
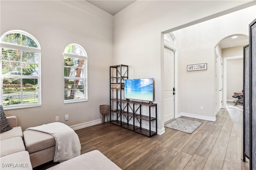
{"type": "MultiPolygon", "coordinates": [[[[20,78],[20,79],[23,79],[23,78],[31,78],[31,77],[36,77],[38,79],[38,88],[37,88],[37,91],[38,91],[38,103],[35,103],[35,104],[17,104],[17,105],[9,105],[9,106],[4,106],[4,109],[8,110],[8,109],[19,109],[19,108],[28,108],[28,107],[38,107],[38,106],[42,106],[42,92],[41,92],[41,54],[42,54],[42,51],[41,51],[41,47],[40,47],[40,44],[39,42],[37,41],[37,39],[25,32],[25,31],[22,31],[22,30],[11,30],[11,31],[8,31],[6,33],[4,33],[1,37],[0,37],[0,75],[1,75],[1,79],[0,79],[0,97],[1,97],[1,100],[0,100],[0,104],[3,104],[3,96],[4,96],[4,91],[3,91],[3,82],[2,80],[6,77],[6,78],[20,78]],[[21,40],[20,42],[22,42],[22,37],[23,35],[26,35],[27,37],[29,37],[30,39],[32,39],[36,45],[38,47],[29,47],[29,46],[25,46],[25,45],[19,45],[19,44],[14,44],[14,43],[8,43],[8,42],[4,42],[2,41],[2,38],[8,34],[11,34],[11,33],[19,33],[20,34],[20,37],[21,37],[21,40]],[[26,75],[19,75],[19,76],[13,76],[13,75],[4,75],[2,74],[2,49],[11,49],[11,50],[18,50],[18,51],[26,51],[26,52],[32,52],[32,53],[37,53],[37,57],[38,57],[38,75],[34,75],[34,76],[26,76],[26,75]]],[[[21,63],[21,61],[20,61],[21,63]]],[[[21,90],[23,92],[23,90],[21,90]]]]}

